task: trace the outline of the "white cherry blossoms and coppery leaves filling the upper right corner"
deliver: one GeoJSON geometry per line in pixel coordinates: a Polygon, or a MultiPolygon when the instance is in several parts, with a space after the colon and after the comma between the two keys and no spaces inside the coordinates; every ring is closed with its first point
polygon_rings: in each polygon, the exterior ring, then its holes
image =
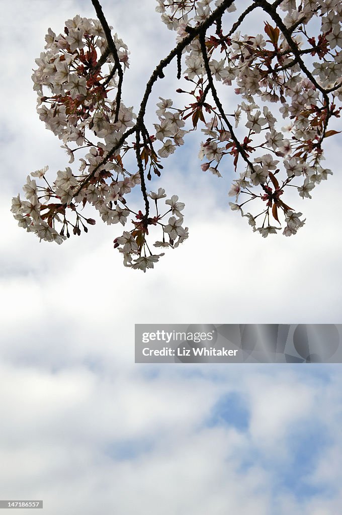
{"type": "MultiPolygon", "coordinates": [[[[179,39],[189,32],[186,26],[196,28],[221,3],[159,0],[157,10],[179,39]]],[[[257,6],[255,2],[251,9],[257,6]]],[[[232,4],[227,11],[234,9],[232,4]]],[[[206,37],[207,56],[199,38],[187,46],[185,56],[184,75],[193,86],[188,93],[196,100],[190,114],[194,127],[198,119],[206,125],[202,132],[207,139],[199,152],[199,158],[206,161],[201,168],[221,177],[224,156],[233,157],[234,169],[240,173],[229,191],[229,196],[235,197],[231,209],[246,217],[253,231],[264,237],[280,230],[280,213],[285,236],[295,234],[304,224],[303,220],[293,222],[302,214],[295,213],[282,195],[294,186],[300,197],[312,198],[313,188],[332,174],[323,166],[322,143],[337,133],[328,130],[328,123],[339,117],[342,100],[340,2],[284,0],[278,12],[273,10],[275,16],[279,12],[284,13],[280,18],[283,31],[265,22],[263,34],[242,35],[240,30],[225,31],[221,22],[213,25],[216,31],[206,37]],[[316,37],[309,35],[314,18],[320,19],[316,37]],[[235,85],[241,100],[233,114],[226,114],[217,102],[208,100],[212,88],[206,58],[216,83],[235,85]],[[206,112],[211,114],[208,121],[206,112]],[[244,214],[242,208],[251,200],[257,201],[253,205],[259,200],[261,207],[254,215],[244,214]]],[[[317,31],[317,22],[314,28],[317,31]]],[[[180,112],[183,119],[189,116],[186,110],[180,112]]]]}

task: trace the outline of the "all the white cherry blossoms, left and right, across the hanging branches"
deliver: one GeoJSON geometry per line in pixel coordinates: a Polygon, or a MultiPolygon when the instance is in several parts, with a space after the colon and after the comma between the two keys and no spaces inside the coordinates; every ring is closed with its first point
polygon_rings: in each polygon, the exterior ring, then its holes
{"type": "Polygon", "coordinates": [[[155,254],[152,246],[176,248],[188,233],[178,196],[167,198],[161,187],[148,193],[146,180],[152,172],[159,177],[161,160],[201,126],[201,169],[221,178],[229,159],[238,174],[229,191],[235,197],[231,209],[263,237],[282,224],[285,236],[295,234],[305,220],[286,194],[311,198],[332,173],[323,165],[322,145],[337,134],[328,125],[342,108],[339,0],[255,0],[238,20],[233,0],[157,2],[162,21],[177,32],[177,46],[153,72],[138,115],[121,101],[129,52],[117,34],[108,35],[107,22],[77,15],[59,35],[48,29],[33,89],[39,117],[61,140],[71,166],[57,171],[54,180],[47,166],[27,177],[25,198],[12,200],[19,226],[60,244],[95,224],[88,216],[91,206],[106,224],[125,227],[114,239],[124,265],[153,268],[164,253],[155,254]],[[244,19],[257,8],[268,20],[262,33],[243,35],[244,19]],[[186,95],[190,101],[175,107],[173,99],[160,97],[152,133],[144,120],[147,100],[174,57],[178,78],[183,76],[178,99],[186,95]],[[234,112],[226,111],[221,95],[229,86],[238,97],[234,112]],[[128,169],[128,153],[137,169],[128,169]],[[128,203],[133,188],[141,190],[144,211],[128,203]]]}

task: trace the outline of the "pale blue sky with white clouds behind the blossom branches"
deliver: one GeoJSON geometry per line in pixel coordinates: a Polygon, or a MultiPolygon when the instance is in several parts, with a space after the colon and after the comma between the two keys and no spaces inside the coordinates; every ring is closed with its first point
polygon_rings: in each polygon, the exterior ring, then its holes
{"type": "MultiPolygon", "coordinates": [[[[153,0],[102,6],[131,52],[124,102],[136,110],[174,34],[153,0]]],[[[88,0],[2,12],[1,499],[43,499],[48,515],[337,515],[339,365],[135,365],[133,337],[147,322],[339,323],[340,140],[327,147],[334,175],[298,197],[295,237],[253,234],[229,210],[232,173],[203,174],[192,134],[153,183],[185,202],[190,238],[155,270],[123,267],[117,226],[39,243],[10,200],[31,171],[67,159],[39,121],[31,70],[48,27],[95,15],[88,0]]],[[[153,98],[176,84],[168,74],[153,98]]]]}

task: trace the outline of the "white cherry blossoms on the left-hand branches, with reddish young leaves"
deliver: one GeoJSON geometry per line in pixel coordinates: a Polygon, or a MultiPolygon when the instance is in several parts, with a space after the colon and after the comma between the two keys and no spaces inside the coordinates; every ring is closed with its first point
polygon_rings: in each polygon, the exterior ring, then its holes
{"type": "MultiPolygon", "coordinates": [[[[111,96],[117,92],[118,71],[112,65],[113,56],[107,52],[101,24],[77,15],[65,22],[63,34],[57,36],[48,29],[45,41],[46,52],[36,60],[38,68],[32,75],[33,89],[38,94],[37,111],[46,128],[63,142],[62,148],[70,164],[74,163],[77,150],[86,148],[87,153],[79,159],[77,174],[67,166],[57,172],[54,182],[47,178],[48,166],[33,171],[23,187],[25,199],[18,195],[12,200],[14,218],[20,227],[35,233],[41,240],[61,244],[71,232],[80,235],[82,230],[88,232],[89,225],[95,225],[95,219],[81,213],[86,204],[92,205],[108,225],[125,226],[132,215],[132,229],[115,238],[114,247],[123,254],[126,266],[146,271],[163,255],[153,254],[148,247],[149,226],[159,226],[162,231],[162,241],[157,240],[156,247],[178,247],[187,237],[187,228],[182,227],[184,204],[174,195],[165,200],[166,212],[160,215],[157,209],[155,217],[147,217],[141,211],[136,213],[128,207],[126,195],[141,184],[141,176],[139,171],[130,173],[124,166],[126,153],[136,148],[134,143],[129,144],[126,139],[121,145],[118,142],[125,131],[134,126],[136,115],[133,108],[127,108],[122,102],[116,115],[116,97],[111,99],[111,96]],[[76,147],[72,148],[71,144],[76,147]],[[42,184],[38,184],[38,180],[42,184]],[[169,216],[168,223],[163,224],[162,218],[167,213],[175,216],[169,216]]],[[[127,46],[116,34],[113,41],[119,61],[128,67],[127,46]]],[[[166,117],[170,114],[162,108],[161,112],[166,117]]],[[[177,132],[177,124],[184,123],[173,117],[168,120],[167,133],[174,132],[174,141],[179,145],[185,131],[177,132]],[[173,131],[173,127],[176,130],[173,131]]],[[[157,138],[160,139],[159,134],[157,138]]],[[[151,141],[153,138],[149,145],[151,141]]],[[[146,158],[146,164],[150,160],[160,175],[162,166],[149,145],[142,145],[141,159],[146,158]]],[[[170,153],[167,148],[164,144],[160,149],[161,157],[170,153]]],[[[166,194],[159,188],[158,194],[151,192],[149,197],[157,208],[157,201],[166,194]]]]}

